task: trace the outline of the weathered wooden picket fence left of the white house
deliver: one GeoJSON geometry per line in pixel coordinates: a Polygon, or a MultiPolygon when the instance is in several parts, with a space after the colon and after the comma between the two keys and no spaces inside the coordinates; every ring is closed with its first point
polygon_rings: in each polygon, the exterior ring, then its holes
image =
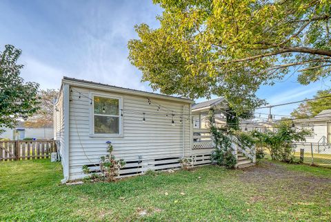
{"type": "Polygon", "coordinates": [[[0,161],[46,159],[57,152],[54,140],[6,140],[0,141],[0,161]]]}

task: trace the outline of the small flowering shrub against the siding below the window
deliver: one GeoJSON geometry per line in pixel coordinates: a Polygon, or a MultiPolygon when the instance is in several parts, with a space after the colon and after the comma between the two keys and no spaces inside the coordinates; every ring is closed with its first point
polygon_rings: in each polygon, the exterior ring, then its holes
{"type": "MultiPolygon", "coordinates": [[[[123,159],[115,159],[114,155],[112,155],[112,151],[114,150],[112,143],[107,141],[106,144],[108,145],[107,148],[107,155],[100,157],[100,171],[101,175],[97,173],[93,173],[89,175],[89,179],[96,181],[96,180],[104,180],[104,181],[114,181],[115,177],[119,175],[119,170],[126,165],[123,159]]],[[[89,174],[90,169],[88,166],[83,166],[83,173],[89,174]]]]}

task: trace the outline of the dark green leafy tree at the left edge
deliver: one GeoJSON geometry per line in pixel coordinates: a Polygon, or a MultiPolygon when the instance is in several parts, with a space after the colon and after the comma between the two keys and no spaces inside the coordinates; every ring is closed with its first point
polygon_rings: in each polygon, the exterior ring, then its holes
{"type": "MultiPolygon", "coordinates": [[[[17,65],[21,50],[6,45],[0,52],[0,127],[13,128],[19,119],[26,119],[38,109],[35,82],[24,83],[19,76],[23,65],[17,65]]],[[[3,131],[0,129],[0,132],[3,131]]]]}

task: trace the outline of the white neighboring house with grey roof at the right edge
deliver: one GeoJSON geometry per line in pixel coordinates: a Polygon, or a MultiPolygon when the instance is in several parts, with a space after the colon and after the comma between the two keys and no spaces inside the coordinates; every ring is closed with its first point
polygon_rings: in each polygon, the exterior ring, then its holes
{"type": "Polygon", "coordinates": [[[295,120],[294,123],[296,127],[312,132],[310,136],[305,137],[305,142],[331,143],[331,109],[323,110],[313,118],[295,120]]]}

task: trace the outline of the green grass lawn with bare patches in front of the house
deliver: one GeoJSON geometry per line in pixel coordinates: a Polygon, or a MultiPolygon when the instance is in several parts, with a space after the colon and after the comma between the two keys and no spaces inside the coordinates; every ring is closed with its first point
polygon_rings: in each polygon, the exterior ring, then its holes
{"type": "Polygon", "coordinates": [[[1,162],[0,221],[331,220],[328,168],[263,161],[111,184],[66,186],[61,178],[61,164],[47,159],[1,162]]]}

